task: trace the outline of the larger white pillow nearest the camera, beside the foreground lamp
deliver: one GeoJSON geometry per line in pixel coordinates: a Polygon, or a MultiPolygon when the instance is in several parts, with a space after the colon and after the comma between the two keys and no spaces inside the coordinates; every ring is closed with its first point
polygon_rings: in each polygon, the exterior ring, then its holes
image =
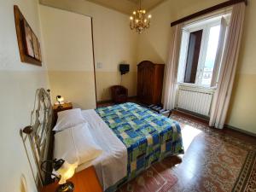
{"type": "Polygon", "coordinates": [[[96,159],[102,154],[90,134],[88,123],[55,133],[55,158],[79,165],[96,159]]]}

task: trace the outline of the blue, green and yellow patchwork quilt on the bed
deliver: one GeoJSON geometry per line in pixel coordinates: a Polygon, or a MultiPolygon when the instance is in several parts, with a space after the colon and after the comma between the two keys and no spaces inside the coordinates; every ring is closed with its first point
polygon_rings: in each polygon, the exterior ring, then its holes
{"type": "Polygon", "coordinates": [[[135,103],[97,108],[101,118],[128,151],[128,177],[136,177],[167,155],[183,154],[178,123],[135,103]]]}

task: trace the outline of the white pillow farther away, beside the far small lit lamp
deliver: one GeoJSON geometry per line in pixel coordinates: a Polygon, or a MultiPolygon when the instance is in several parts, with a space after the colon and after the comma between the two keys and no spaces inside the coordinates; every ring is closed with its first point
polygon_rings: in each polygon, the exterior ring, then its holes
{"type": "Polygon", "coordinates": [[[62,131],[85,122],[80,108],[61,111],[58,113],[57,123],[53,131],[62,131]]]}

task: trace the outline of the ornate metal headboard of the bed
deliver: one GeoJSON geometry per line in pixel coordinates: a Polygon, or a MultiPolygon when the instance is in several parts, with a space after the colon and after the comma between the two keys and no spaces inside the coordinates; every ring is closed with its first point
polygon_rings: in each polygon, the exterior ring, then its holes
{"type": "MultiPolygon", "coordinates": [[[[26,140],[29,140],[32,156],[37,167],[37,176],[33,173],[33,177],[37,186],[49,183],[50,177],[41,171],[40,166],[44,160],[52,160],[53,156],[53,110],[50,102],[49,90],[44,88],[36,90],[34,108],[31,113],[31,125],[20,130],[20,136],[26,148],[30,166],[32,168],[32,160],[28,155],[29,148],[26,147],[26,140]],[[38,183],[39,182],[39,183],[38,183]]],[[[51,166],[46,169],[51,172],[51,166]]]]}

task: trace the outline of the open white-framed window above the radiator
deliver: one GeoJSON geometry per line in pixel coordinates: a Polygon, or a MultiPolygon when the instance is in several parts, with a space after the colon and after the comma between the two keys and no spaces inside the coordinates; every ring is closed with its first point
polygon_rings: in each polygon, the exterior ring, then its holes
{"type": "Polygon", "coordinates": [[[183,27],[177,81],[216,86],[229,15],[183,27]]]}

